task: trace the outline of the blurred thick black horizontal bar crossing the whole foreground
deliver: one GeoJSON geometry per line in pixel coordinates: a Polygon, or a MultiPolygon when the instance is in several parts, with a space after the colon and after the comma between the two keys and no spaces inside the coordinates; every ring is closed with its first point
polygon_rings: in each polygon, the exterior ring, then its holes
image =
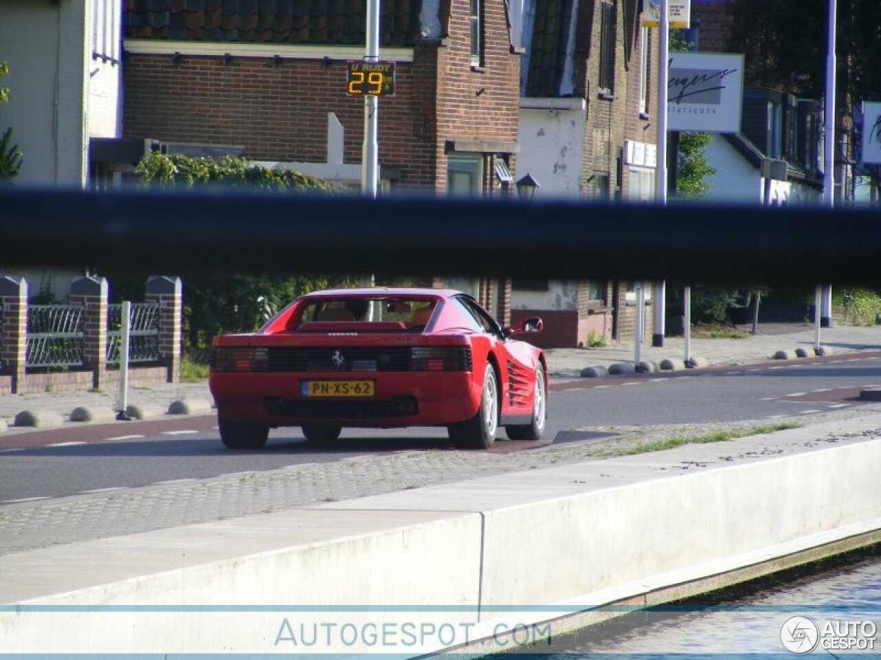
{"type": "Polygon", "coordinates": [[[877,209],[0,193],[6,267],[881,283],[877,209]]]}

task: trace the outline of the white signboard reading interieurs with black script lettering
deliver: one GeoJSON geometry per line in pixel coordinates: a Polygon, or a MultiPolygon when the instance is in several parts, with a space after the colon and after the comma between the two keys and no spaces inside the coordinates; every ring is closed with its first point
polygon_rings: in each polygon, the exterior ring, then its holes
{"type": "Polygon", "coordinates": [[[668,130],[737,133],[744,102],[744,55],[670,53],[668,130]]]}

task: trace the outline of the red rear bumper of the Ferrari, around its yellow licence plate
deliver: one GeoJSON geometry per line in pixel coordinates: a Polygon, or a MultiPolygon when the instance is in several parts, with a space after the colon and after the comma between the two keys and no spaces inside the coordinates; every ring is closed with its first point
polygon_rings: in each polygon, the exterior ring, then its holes
{"type": "Polygon", "coordinates": [[[462,371],[356,373],[308,376],[292,373],[212,373],[218,415],[231,422],[271,427],[339,424],[347,427],[446,426],[478,411],[480,388],[462,371]],[[374,383],[369,397],[309,397],[304,381],[359,380],[374,383]]]}

